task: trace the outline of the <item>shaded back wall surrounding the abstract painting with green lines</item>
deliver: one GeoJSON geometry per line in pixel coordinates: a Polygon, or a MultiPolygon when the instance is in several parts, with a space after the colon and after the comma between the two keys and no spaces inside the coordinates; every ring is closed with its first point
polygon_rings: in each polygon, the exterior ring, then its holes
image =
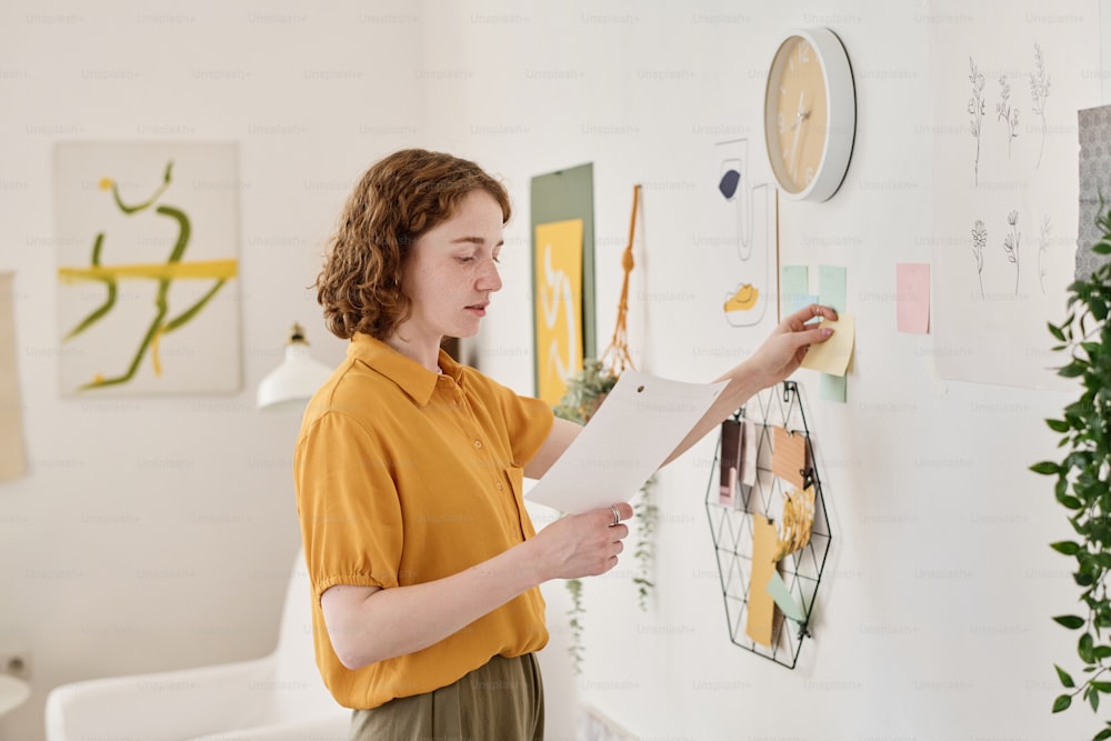
{"type": "Polygon", "coordinates": [[[300,542],[300,414],[257,411],[254,387],[294,320],[320,359],[342,357],[304,287],[352,181],[422,138],[417,13],[301,4],[0,10],[0,268],[16,271],[30,459],[26,479],[0,484],[0,649],[31,651],[34,691],[0,738],[41,737],[61,682],[250,658],[277,640],[300,542]],[[63,400],[53,142],[179,138],[239,143],[242,391],[63,400]]]}

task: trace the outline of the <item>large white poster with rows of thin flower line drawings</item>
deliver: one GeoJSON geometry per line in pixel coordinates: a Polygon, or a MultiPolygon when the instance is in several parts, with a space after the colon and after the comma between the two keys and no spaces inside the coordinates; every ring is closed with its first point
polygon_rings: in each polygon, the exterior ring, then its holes
{"type": "MultiPolygon", "coordinates": [[[[1067,1],[1057,17],[1044,9],[1041,0],[930,4],[931,18],[961,19],[929,24],[930,123],[921,133],[931,213],[929,234],[914,239],[930,246],[930,357],[942,379],[1065,384],[1043,330],[1073,280],[1078,217],[1081,233],[1091,223],[1078,212],[1078,154],[1107,144],[1077,126],[1077,111],[1100,100],[1091,3],[1067,1]],[[1043,22],[1065,17],[1085,20],[1043,22]]],[[[1087,172],[1101,182],[1100,170],[1087,172]]]]}

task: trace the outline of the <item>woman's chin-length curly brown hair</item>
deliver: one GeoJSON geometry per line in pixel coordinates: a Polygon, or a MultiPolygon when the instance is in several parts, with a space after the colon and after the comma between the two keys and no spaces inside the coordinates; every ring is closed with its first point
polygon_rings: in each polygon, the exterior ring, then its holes
{"type": "Polygon", "coordinates": [[[472,190],[493,196],[502,223],[509,221],[506,188],[469,160],[404,149],[367,170],[343,207],[314,284],[332,334],[393,334],[412,310],[401,284],[412,246],[453,217],[472,190]]]}

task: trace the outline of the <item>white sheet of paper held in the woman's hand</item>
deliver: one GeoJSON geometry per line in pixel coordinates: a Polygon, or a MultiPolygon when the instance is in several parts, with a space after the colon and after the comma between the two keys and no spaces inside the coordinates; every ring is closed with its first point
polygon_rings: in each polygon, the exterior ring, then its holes
{"type": "Polygon", "coordinates": [[[683,383],[624,371],[526,499],[572,513],[629,501],[727,383],[683,383]]]}

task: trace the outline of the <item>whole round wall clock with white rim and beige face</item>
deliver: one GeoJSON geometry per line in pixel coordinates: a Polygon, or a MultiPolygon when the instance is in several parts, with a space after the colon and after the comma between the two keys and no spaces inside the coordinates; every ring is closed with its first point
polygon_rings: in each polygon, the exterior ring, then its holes
{"type": "Polygon", "coordinates": [[[844,46],[825,28],[791,31],[764,90],[764,142],[783,193],[828,200],[844,180],[857,132],[857,90],[844,46]]]}

